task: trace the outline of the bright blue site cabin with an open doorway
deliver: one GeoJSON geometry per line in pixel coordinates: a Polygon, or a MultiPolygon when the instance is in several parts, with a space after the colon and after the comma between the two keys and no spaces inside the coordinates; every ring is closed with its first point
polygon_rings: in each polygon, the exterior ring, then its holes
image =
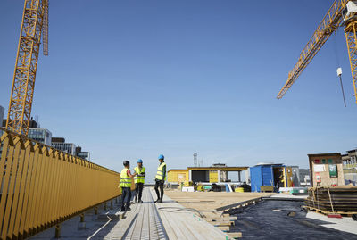
{"type": "Polygon", "coordinates": [[[252,192],[261,192],[261,186],[291,187],[293,171],[283,164],[261,163],[250,168],[252,192]]]}

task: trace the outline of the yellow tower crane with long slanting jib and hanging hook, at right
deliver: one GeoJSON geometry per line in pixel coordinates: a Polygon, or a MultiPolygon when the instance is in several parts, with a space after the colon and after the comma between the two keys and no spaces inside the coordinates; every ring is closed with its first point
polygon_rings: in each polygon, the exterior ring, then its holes
{"type": "MultiPolygon", "coordinates": [[[[357,103],[357,1],[336,0],[328,10],[328,13],[320,22],[307,45],[303,48],[293,70],[290,70],[286,84],[278,93],[278,99],[282,98],[286,91],[293,85],[312,58],[319,52],[320,48],[339,27],[345,28],[345,38],[347,42],[348,54],[352,71],[354,96],[357,103]]],[[[341,71],[337,70],[340,75],[341,71]]]]}

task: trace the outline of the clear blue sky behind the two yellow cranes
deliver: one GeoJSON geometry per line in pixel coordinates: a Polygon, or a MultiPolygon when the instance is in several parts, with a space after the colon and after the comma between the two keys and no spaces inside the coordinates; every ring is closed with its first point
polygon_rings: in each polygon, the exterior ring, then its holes
{"type": "MultiPolygon", "coordinates": [[[[356,147],[356,104],[343,29],[282,100],[276,95],[333,1],[51,1],[33,115],[55,137],[121,170],[307,167],[308,153],[356,147]],[[335,54],[335,49],[337,49],[335,54]],[[343,68],[347,108],[336,77],[343,68]]],[[[0,8],[0,105],[7,108],[23,1],[0,8]]],[[[149,176],[153,176],[150,174],[149,176]]]]}

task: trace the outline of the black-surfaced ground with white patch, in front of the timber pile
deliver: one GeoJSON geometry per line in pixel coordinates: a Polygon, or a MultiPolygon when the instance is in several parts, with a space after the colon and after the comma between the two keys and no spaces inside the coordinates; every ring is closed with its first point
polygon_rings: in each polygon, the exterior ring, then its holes
{"type": "Polygon", "coordinates": [[[232,211],[237,221],[231,229],[242,232],[244,239],[357,239],[357,222],[352,218],[329,219],[320,213],[306,213],[302,204],[263,201],[232,211]]]}

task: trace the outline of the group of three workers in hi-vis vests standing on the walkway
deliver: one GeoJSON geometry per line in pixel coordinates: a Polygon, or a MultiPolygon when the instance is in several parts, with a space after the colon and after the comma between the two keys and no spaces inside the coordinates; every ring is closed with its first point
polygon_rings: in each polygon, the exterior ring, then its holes
{"type": "MultiPolygon", "coordinates": [[[[164,156],[161,154],[159,156],[159,167],[157,168],[155,176],[155,192],[157,195],[157,200],[155,203],[162,203],[163,197],[163,184],[166,179],[166,163],[164,161],[164,156]],[[160,193],[159,193],[160,188],[160,193]]],[[[124,169],[120,173],[120,188],[121,188],[121,208],[120,211],[130,211],[130,200],[131,200],[131,179],[134,178],[135,182],[135,203],[143,203],[141,196],[143,194],[143,188],[145,183],[145,168],[143,167],[143,161],[141,159],[137,160],[137,167],[134,169],[134,174],[130,172],[130,162],[123,162],[124,169]]]]}

